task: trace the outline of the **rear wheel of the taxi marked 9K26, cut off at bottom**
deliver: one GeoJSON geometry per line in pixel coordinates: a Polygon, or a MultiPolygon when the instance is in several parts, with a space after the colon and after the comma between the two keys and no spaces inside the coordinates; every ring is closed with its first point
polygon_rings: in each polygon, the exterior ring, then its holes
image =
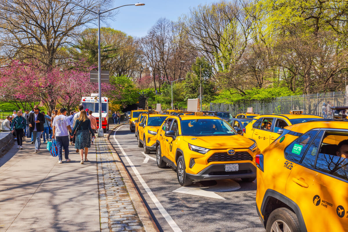
{"type": "Polygon", "coordinates": [[[285,228],[291,232],[301,232],[296,214],[288,208],[273,210],[267,220],[266,232],[285,231],[285,228]],[[283,230],[280,230],[280,228],[283,228],[283,230]]]}

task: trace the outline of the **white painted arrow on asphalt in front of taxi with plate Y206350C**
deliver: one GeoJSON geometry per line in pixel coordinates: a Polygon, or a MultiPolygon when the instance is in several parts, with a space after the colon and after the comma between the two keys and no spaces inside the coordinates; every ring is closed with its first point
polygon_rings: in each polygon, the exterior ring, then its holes
{"type": "Polygon", "coordinates": [[[225,180],[217,181],[216,185],[207,186],[207,187],[201,185],[199,182],[195,182],[191,186],[180,187],[179,189],[176,189],[173,192],[186,193],[186,194],[198,195],[202,197],[211,197],[211,198],[226,200],[225,198],[221,197],[215,192],[229,192],[229,191],[234,191],[237,189],[240,189],[240,185],[237,182],[225,179],[225,180]]]}

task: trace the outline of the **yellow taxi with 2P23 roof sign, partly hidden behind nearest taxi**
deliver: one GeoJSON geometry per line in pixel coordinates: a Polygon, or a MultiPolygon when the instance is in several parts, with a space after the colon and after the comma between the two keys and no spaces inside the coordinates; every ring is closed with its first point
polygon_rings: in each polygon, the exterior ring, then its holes
{"type": "Polygon", "coordinates": [[[279,137],[284,127],[320,118],[322,117],[294,110],[290,111],[290,114],[263,114],[253,118],[253,121],[245,126],[243,136],[253,140],[262,152],[279,137]]]}

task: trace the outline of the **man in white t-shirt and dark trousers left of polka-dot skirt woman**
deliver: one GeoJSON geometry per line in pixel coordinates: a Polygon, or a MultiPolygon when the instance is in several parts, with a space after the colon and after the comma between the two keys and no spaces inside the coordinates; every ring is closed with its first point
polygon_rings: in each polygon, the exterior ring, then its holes
{"type": "Polygon", "coordinates": [[[65,161],[69,162],[69,134],[68,130],[71,133],[71,123],[68,117],[66,117],[66,109],[61,108],[60,115],[56,115],[52,122],[52,138],[55,138],[57,141],[58,148],[58,163],[62,163],[63,155],[62,150],[64,148],[65,161]]]}

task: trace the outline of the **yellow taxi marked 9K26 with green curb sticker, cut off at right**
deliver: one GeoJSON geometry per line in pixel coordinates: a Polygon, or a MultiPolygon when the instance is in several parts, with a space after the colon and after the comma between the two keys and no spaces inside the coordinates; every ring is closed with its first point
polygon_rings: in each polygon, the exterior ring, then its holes
{"type": "Polygon", "coordinates": [[[266,232],[348,231],[348,120],[288,126],[256,155],[256,208],[266,232]]]}

